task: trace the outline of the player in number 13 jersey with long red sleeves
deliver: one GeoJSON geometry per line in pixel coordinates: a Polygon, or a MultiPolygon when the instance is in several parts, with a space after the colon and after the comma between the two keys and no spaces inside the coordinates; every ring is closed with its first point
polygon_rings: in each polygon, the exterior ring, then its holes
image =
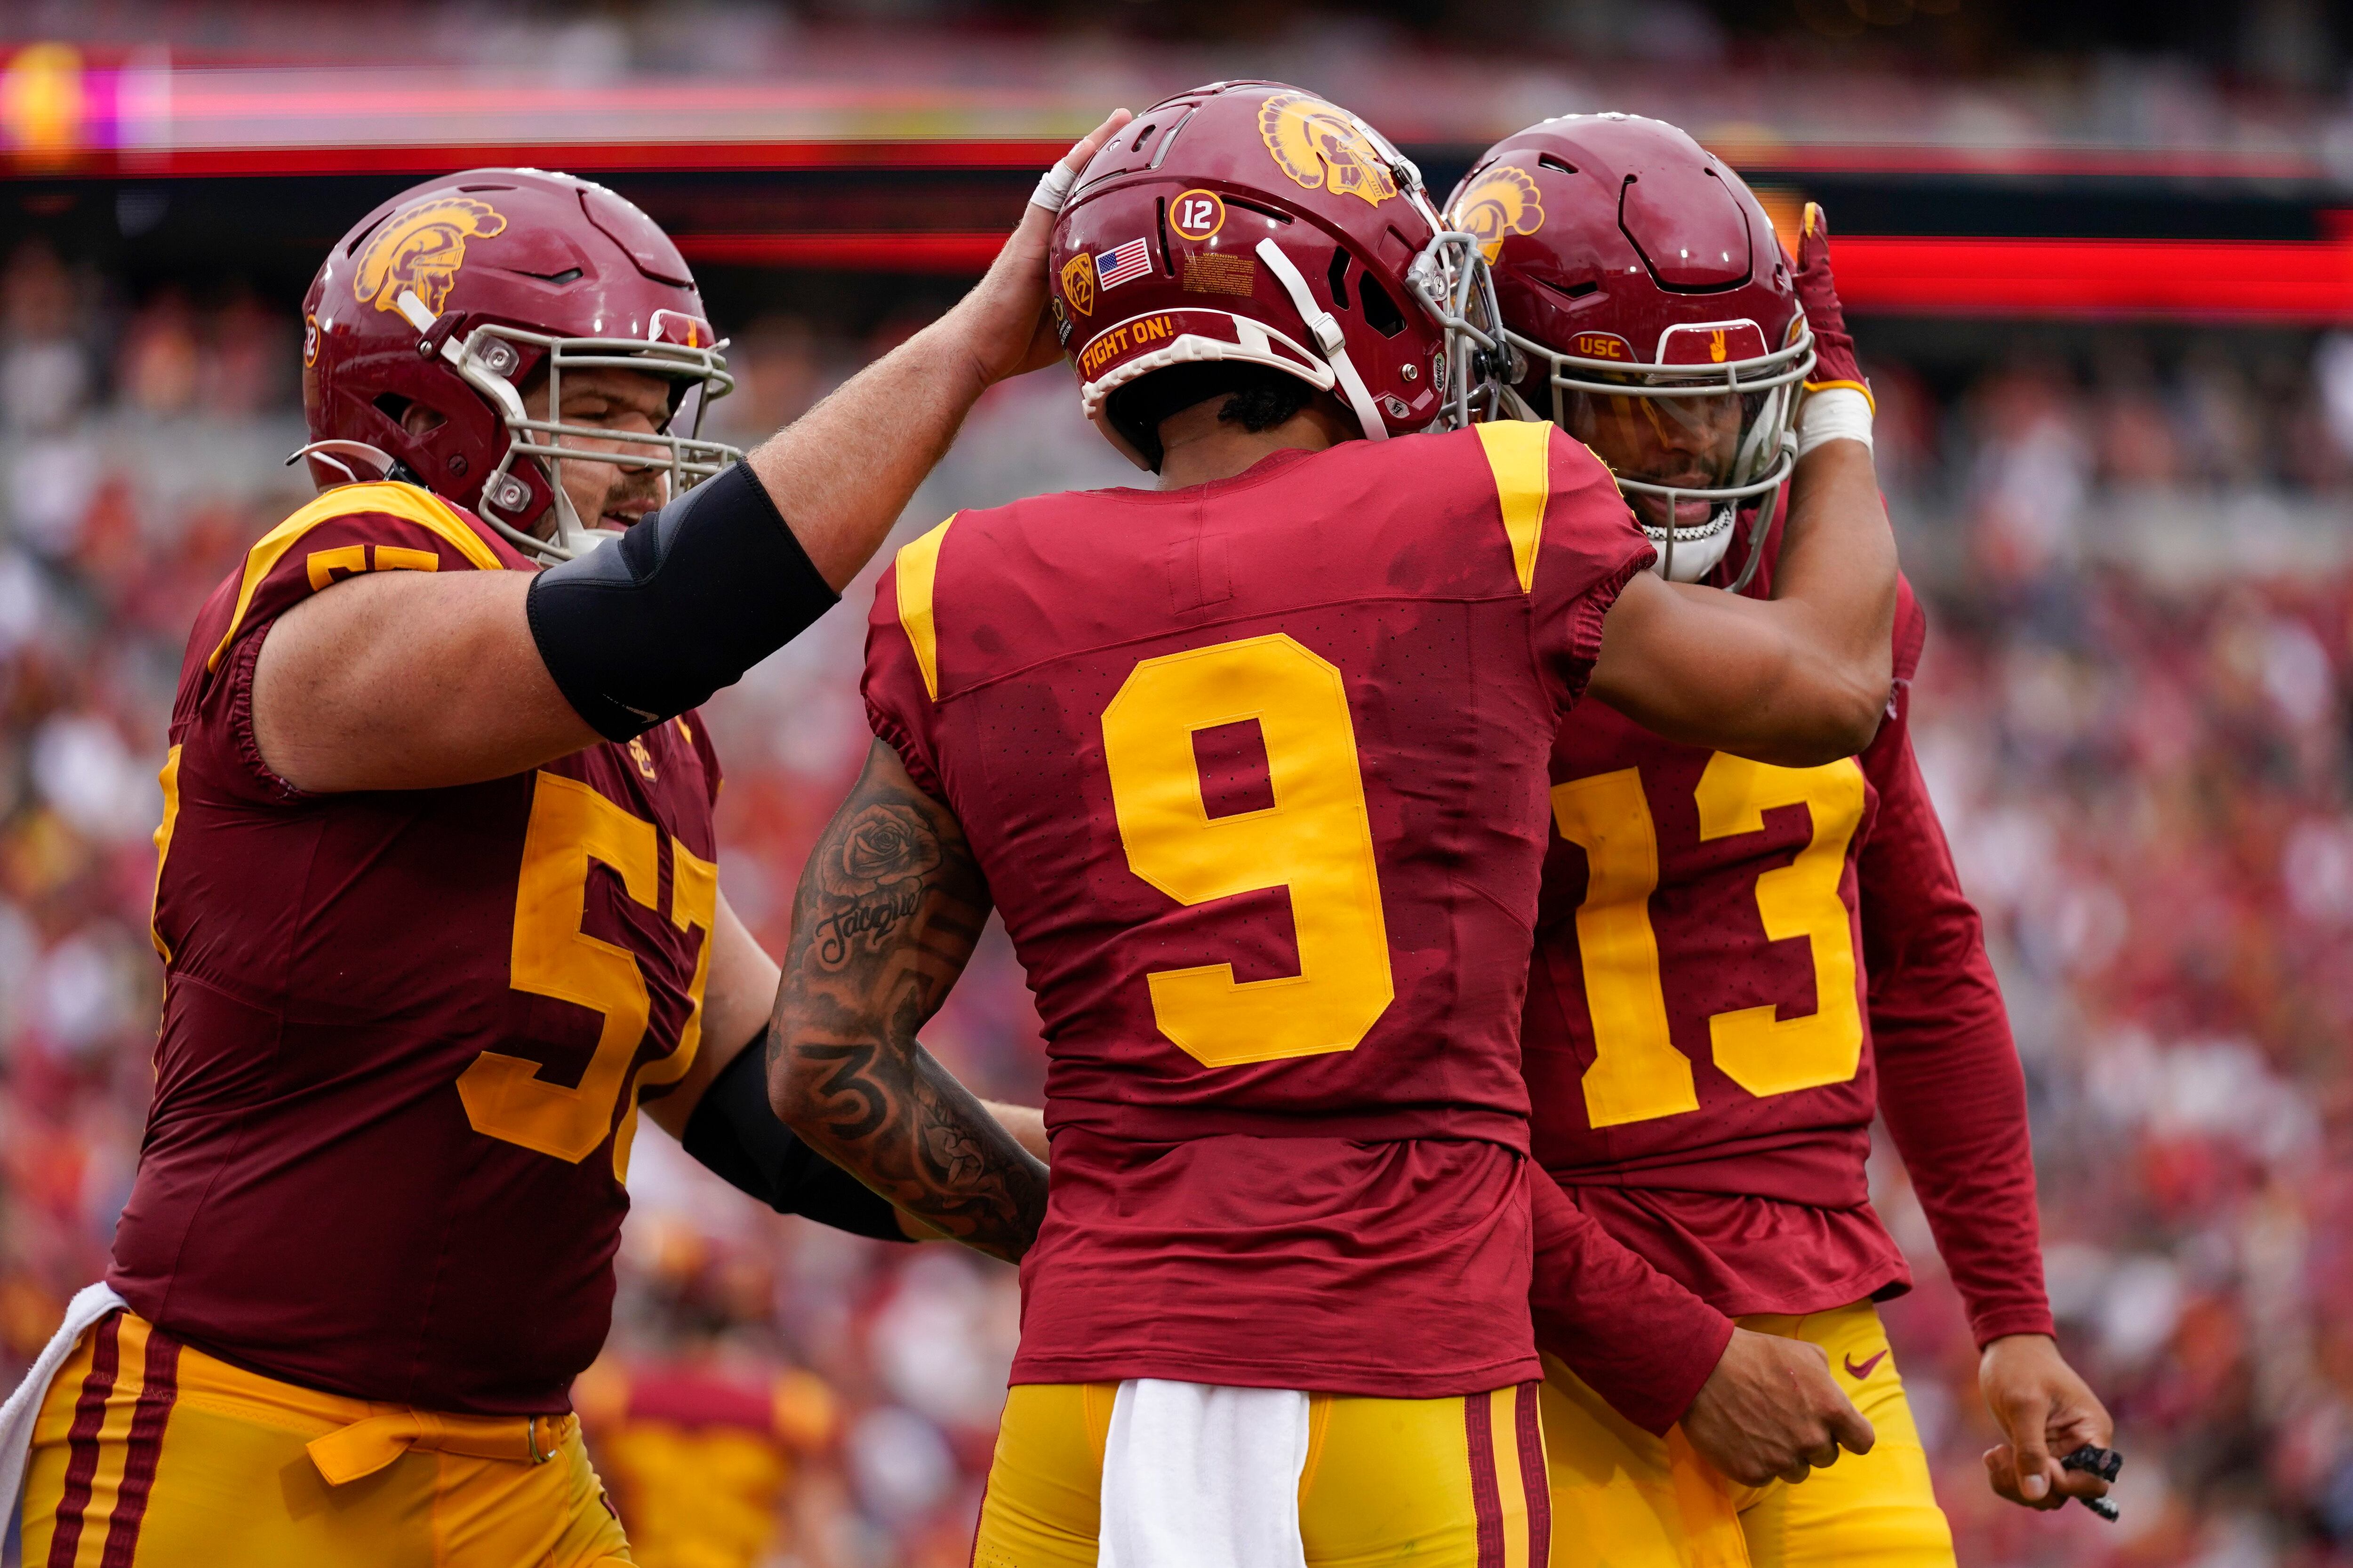
{"type": "MultiPolygon", "coordinates": [[[[1609,463],[1659,569],[1769,592],[1793,461],[1871,435],[1819,209],[1793,266],[1680,129],[1567,115],[1497,143],[1449,212],[1494,266],[1518,393],[1609,463]]],[[[1560,731],[1522,1025],[1534,1154],[1682,1302],[1560,1335],[1553,1507],[1588,1528],[1555,1566],[1953,1561],[1871,1305],[1911,1284],[1868,1206],[1873,1107],[1984,1349],[1995,1490],[2106,1490],[2059,1467],[2111,1425],[2052,1340],[2024,1079],[1911,755],[1922,635],[1904,585],[1894,698],[1852,759],[1767,766],[1605,710],[1560,731]],[[1871,1453],[1777,1481],[1835,1458],[1819,1422],[1849,1394],[1871,1453]]]]}

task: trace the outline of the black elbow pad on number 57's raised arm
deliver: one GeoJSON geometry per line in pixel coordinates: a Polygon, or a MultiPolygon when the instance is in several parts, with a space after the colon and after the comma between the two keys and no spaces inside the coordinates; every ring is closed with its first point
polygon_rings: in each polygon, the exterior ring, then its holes
{"type": "Polygon", "coordinates": [[[600,736],[628,741],[732,686],[838,602],[751,463],[734,463],[541,571],[527,614],[555,689],[600,736]]]}

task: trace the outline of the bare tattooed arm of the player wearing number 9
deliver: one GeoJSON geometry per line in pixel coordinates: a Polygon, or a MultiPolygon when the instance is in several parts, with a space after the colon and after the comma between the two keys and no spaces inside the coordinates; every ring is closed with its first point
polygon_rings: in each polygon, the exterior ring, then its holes
{"type": "Polygon", "coordinates": [[[915,1044],[986,919],[955,816],[875,743],[800,875],[767,1088],[793,1131],[899,1208],[1019,1258],[1045,1218],[1045,1166],[915,1044]]]}

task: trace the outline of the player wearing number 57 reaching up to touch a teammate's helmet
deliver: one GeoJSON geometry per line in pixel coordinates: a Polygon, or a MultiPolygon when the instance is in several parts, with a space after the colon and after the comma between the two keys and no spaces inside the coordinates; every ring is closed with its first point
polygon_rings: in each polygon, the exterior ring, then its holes
{"type": "Polygon", "coordinates": [[[172,712],[113,1269],[0,1420],[28,1563],[628,1561],[567,1387],[640,1098],[746,1192],[901,1234],[744,1051],[776,966],[720,893],[694,703],[1052,360],[1047,235],[746,461],[694,433],[727,374],[685,261],[609,190],[475,169],[334,247],[332,487],[205,604],[172,712]]]}

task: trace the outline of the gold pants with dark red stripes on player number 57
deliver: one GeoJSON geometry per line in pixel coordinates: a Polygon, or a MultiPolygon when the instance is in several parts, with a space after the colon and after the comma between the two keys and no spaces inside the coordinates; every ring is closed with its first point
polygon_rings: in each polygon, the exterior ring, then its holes
{"type": "Polygon", "coordinates": [[[132,1312],[59,1368],[33,1427],[26,1568],[612,1568],[565,1418],[435,1415],[188,1349],[132,1312]]]}

